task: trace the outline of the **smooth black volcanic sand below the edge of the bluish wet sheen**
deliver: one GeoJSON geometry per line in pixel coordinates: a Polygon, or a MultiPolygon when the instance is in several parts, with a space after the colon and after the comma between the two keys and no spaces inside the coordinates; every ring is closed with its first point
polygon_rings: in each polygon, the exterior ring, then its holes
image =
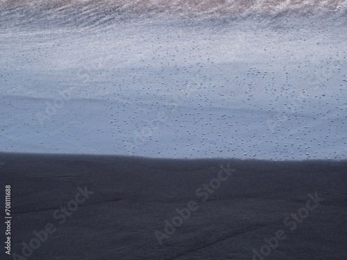
{"type": "MultiPolygon", "coordinates": [[[[0,173],[1,215],[11,185],[12,257],[30,241],[36,248],[18,259],[347,259],[346,161],[0,153],[0,173]],[[228,164],[235,172],[218,187],[213,179],[228,164]],[[211,180],[215,189],[197,196],[211,180]],[[94,193],[83,196],[78,187],[94,193]],[[323,200],[315,203],[309,193],[323,200]],[[174,218],[191,200],[196,210],[174,218]],[[178,227],[165,234],[164,220],[173,218],[178,227]],[[276,232],[281,240],[270,239],[276,232]]],[[[1,248],[1,259],[13,259],[1,248]]]]}

